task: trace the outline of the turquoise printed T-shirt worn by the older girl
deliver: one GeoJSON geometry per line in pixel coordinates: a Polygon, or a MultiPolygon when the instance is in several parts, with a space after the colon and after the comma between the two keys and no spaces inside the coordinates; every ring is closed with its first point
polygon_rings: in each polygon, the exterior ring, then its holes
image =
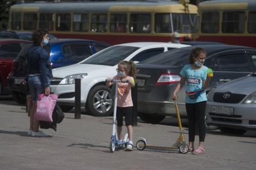
{"type": "MultiPolygon", "coordinates": [[[[194,69],[191,64],[186,64],[180,71],[181,76],[186,77],[186,91],[200,91],[203,89],[203,82],[207,77],[207,67],[203,66],[200,69],[194,69]]],[[[190,99],[186,95],[186,103],[198,103],[207,101],[206,91],[203,91],[196,99],[190,99]]]]}

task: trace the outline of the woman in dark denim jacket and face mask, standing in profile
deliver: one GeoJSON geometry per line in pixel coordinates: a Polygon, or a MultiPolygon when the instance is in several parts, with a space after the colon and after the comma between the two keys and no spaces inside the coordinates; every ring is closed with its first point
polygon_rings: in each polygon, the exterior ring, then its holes
{"type": "Polygon", "coordinates": [[[50,67],[49,53],[43,49],[49,42],[47,29],[38,29],[32,34],[33,46],[28,50],[28,85],[33,105],[30,114],[29,136],[44,137],[47,136],[39,129],[39,121],[35,120],[37,111],[38,94],[50,94],[50,78],[52,78],[52,69],[50,67]]]}

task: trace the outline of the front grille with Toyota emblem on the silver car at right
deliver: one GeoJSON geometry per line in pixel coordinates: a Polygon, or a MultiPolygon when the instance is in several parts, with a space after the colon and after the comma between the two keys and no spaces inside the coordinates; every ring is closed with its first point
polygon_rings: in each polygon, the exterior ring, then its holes
{"type": "Polygon", "coordinates": [[[214,102],[219,103],[239,103],[245,98],[245,94],[235,94],[235,93],[215,93],[213,96],[214,102]]]}

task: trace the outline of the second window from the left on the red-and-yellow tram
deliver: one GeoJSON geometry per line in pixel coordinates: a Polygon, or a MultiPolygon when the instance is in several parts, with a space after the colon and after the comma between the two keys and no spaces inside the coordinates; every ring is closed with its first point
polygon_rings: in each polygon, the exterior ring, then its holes
{"type": "Polygon", "coordinates": [[[24,30],[37,29],[37,14],[36,13],[23,14],[23,29],[24,30]]]}

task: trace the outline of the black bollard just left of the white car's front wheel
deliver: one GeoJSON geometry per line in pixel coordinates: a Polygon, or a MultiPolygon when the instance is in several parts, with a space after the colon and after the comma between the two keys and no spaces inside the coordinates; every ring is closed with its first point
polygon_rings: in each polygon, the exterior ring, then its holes
{"type": "Polygon", "coordinates": [[[81,119],[81,79],[75,79],[75,119],[81,119]]]}

